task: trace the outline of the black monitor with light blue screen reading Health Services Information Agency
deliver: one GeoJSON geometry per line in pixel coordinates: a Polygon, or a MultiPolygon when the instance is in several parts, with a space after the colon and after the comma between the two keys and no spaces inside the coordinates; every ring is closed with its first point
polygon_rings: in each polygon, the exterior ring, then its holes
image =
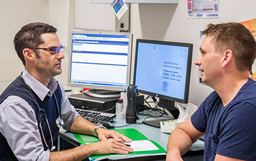
{"type": "Polygon", "coordinates": [[[193,44],[157,40],[136,41],[133,84],[142,94],[158,97],[158,105],[174,116],[174,102],[187,103],[193,44]]]}

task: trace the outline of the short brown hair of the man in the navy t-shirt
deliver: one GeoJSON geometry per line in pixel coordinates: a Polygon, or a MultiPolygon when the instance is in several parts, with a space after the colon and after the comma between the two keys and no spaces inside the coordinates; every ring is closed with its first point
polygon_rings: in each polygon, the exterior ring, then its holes
{"type": "Polygon", "coordinates": [[[216,52],[232,50],[237,70],[251,70],[256,57],[256,42],[245,25],[236,22],[210,23],[202,34],[212,37],[216,52]]]}

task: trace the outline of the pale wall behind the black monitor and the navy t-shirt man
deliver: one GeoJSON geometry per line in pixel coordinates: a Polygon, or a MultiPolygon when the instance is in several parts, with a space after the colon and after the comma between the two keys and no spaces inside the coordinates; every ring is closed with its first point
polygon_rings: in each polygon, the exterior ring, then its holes
{"type": "MultiPolygon", "coordinates": [[[[218,19],[187,19],[187,1],[185,0],[179,0],[178,5],[131,4],[130,6],[130,29],[134,39],[193,43],[193,62],[199,54],[199,31],[205,29],[208,23],[239,22],[256,17],[255,0],[220,0],[218,19]]],[[[198,68],[193,64],[189,101],[199,106],[212,91],[206,85],[199,85],[198,68]]]]}

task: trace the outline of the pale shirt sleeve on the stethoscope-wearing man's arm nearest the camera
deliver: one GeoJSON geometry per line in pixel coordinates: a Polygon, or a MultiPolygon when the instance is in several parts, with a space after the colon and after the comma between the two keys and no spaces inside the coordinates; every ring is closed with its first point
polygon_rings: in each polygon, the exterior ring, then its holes
{"type": "Polygon", "coordinates": [[[0,105],[0,121],[0,131],[18,160],[49,160],[34,109],[24,99],[7,97],[0,105]]]}

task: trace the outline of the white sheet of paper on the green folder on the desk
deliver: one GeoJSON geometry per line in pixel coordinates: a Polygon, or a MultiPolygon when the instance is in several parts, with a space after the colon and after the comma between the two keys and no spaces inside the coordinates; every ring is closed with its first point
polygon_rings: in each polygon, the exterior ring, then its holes
{"type": "Polygon", "coordinates": [[[148,151],[148,150],[159,150],[152,142],[149,140],[137,140],[129,143],[131,148],[133,148],[133,152],[140,151],[148,151]]]}

